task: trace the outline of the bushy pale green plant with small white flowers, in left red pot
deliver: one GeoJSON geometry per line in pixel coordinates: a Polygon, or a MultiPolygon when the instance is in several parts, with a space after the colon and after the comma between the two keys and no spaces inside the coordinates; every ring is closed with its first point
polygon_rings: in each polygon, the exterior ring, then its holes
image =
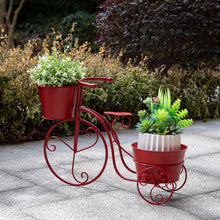
{"type": "Polygon", "coordinates": [[[40,86],[64,86],[77,84],[84,76],[84,68],[79,61],[72,62],[70,57],[64,57],[53,49],[51,55],[46,53],[39,57],[36,67],[29,72],[31,78],[40,86]]]}

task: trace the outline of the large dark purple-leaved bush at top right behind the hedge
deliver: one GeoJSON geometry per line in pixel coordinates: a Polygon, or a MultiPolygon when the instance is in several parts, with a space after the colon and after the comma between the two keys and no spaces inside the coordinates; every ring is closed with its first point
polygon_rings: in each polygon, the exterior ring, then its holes
{"type": "Polygon", "coordinates": [[[219,64],[220,18],[216,0],[106,0],[96,17],[97,43],[124,59],[148,56],[162,64],[219,64]]]}

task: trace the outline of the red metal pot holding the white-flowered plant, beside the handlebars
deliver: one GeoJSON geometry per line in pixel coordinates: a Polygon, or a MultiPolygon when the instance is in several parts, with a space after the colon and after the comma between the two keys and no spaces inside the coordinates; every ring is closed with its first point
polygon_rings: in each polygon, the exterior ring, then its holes
{"type": "Polygon", "coordinates": [[[51,120],[73,118],[78,88],[78,85],[38,86],[43,117],[51,120]]]}

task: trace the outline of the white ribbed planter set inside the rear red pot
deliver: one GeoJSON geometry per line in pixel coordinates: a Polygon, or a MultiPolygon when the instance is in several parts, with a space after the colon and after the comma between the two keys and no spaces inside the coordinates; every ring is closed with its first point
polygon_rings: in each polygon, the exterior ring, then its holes
{"type": "Polygon", "coordinates": [[[138,133],[137,148],[149,151],[174,151],[181,148],[181,135],[138,133]]]}

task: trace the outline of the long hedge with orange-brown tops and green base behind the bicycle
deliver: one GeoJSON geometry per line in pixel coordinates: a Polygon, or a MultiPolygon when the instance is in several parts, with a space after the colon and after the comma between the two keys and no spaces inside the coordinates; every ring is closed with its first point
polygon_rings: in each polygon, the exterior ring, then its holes
{"type": "MultiPolygon", "coordinates": [[[[182,100],[182,108],[189,109],[189,117],[208,119],[219,117],[220,71],[201,67],[195,71],[173,68],[163,76],[161,70],[149,71],[145,60],[133,66],[123,65],[120,56],[106,56],[105,48],[92,53],[87,43],[79,46],[77,40],[72,46],[71,35],[63,40],[62,35],[51,32],[43,41],[39,55],[49,53],[51,46],[64,51],[73,61],[80,61],[86,68],[87,76],[111,76],[113,82],[98,82],[96,89],[85,88],[83,104],[103,113],[129,111],[132,122],[138,121],[138,111],[142,101],[148,96],[156,96],[158,88],[170,88],[174,99],[182,100]]],[[[54,121],[42,119],[40,101],[36,85],[30,79],[28,69],[38,62],[33,51],[37,41],[29,41],[24,48],[5,49],[6,42],[0,42],[0,144],[44,138],[54,121]]],[[[89,114],[83,117],[96,121],[89,114]]],[[[59,135],[72,134],[72,126],[61,124],[59,135]]],[[[83,130],[83,128],[82,128],[83,130]]]]}

